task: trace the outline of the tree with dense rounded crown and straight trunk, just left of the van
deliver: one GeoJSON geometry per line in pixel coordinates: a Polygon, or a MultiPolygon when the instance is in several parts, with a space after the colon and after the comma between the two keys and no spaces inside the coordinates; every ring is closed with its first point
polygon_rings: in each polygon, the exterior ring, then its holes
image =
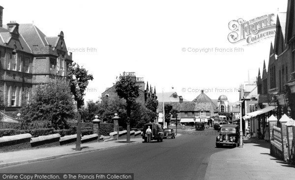
{"type": "Polygon", "coordinates": [[[131,107],[135,102],[135,99],[139,96],[139,86],[135,81],[131,79],[129,75],[117,77],[115,83],[115,89],[120,98],[126,100],[126,113],[127,113],[127,143],[130,143],[130,119],[131,119],[131,107]]]}

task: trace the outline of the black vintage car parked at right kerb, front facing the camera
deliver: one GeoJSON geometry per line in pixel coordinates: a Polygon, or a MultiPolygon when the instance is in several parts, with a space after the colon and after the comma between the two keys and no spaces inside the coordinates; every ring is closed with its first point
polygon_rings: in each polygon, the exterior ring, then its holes
{"type": "Polygon", "coordinates": [[[223,145],[233,147],[239,146],[239,126],[234,124],[224,124],[220,128],[220,134],[216,137],[216,148],[223,145]]]}

